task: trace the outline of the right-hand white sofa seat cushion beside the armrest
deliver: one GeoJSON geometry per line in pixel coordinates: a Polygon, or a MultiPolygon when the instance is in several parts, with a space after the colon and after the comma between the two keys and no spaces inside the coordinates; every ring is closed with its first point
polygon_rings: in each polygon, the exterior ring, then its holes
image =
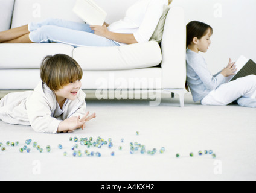
{"type": "Polygon", "coordinates": [[[73,58],[83,70],[123,70],[157,66],[162,53],[158,43],[150,41],[113,47],[78,47],[73,58]]]}

